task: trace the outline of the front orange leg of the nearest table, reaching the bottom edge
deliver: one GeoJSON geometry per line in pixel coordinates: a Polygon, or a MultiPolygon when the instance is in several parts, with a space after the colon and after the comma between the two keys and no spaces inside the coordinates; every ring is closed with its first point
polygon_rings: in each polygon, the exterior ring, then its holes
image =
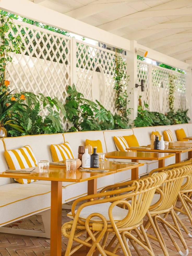
{"type": "Polygon", "coordinates": [[[51,181],[50,256],[61,256],[62,181],[51,181]]]}

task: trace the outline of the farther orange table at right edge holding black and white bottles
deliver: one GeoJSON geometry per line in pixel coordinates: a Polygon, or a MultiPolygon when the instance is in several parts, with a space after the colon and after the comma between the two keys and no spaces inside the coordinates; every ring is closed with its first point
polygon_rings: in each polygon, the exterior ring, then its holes
{"type": "Polygon", "coordinates": [[[141,146],[138,148],[136,148],[136,147],[126,148],[126,150],[134,150],[134,151],[138,151],[138,152],[174,153],[175,154],[175,163],[181,162],[181,153],[188,152],[188,159],[191,158],[191,154],[192,154],[192,148],[188,148],[188,149],[186,149],[186,148],[183,148],[183,149],[168,148],[168,150],[160,150],[160,149],[151,149],[148,146],[141,146]]]}

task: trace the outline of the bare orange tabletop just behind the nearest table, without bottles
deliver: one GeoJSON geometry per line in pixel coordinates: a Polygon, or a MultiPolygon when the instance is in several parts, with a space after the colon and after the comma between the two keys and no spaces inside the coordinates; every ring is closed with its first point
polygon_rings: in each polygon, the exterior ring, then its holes
{"type": "Polygon", "coordinates": [[[173,153],[154,153],[154,152],[127,152],[127,151],[112,151],[105,153],[106,158],[119,159],[135,159],[135,160],[161,160],[171,156],[173,153]]]}

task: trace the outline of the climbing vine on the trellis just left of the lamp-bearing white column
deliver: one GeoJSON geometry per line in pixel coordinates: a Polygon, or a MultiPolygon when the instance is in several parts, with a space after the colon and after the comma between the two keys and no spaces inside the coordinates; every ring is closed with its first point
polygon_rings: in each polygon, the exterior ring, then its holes
{"type": "Polygon", "coordinates": [[[131,109],[127,109],[127,104],[129,103],[128,94],[127,94],[127,86],[129,80],[129,76],[126,74],[127,63],[123,59],[122,55],[115,52],[115,70],[114,70],[114,80],[115,87],[114,90],[116,92],[115,106],[119,111],[119,114],[128,118],[131,109]]]}

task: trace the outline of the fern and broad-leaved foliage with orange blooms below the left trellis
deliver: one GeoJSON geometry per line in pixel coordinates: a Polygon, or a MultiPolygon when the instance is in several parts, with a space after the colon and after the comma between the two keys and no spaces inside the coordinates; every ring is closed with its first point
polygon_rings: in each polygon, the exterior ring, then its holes
{"type": "MultiPolygon", "coordinates": [[[[20,115],[22,131],[13,127],[8,130],[11,136],[63,132],[58,111],[61,110],[65,116],[65,109],[56,97],[52,99],[41,93],[35,95],[32,92],[21,92],[15,93],[12,98],[18,104],[21,104],[21,100],[25,100],[26,105],[21,109],[22,115],[20,115]],[[48,115],[45,115],[45,112],[48,112],[48,115]]],[[[19,115],[19,112],[16,111],[14,114],[19,115]]]]}

